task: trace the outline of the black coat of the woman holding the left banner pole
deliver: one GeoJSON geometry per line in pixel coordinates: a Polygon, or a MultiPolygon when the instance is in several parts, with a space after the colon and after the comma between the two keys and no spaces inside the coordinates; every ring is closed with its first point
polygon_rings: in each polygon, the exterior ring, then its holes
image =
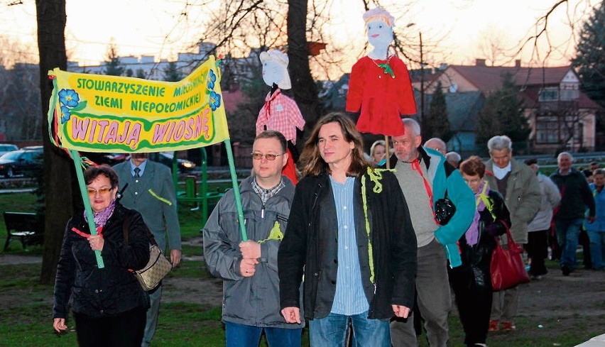
{"type": "Polygon", "coordinates": [[[115,316],[138,307],[148,308],[149,297],[129,269],[144,268],[149,261],[149,238],[143,217],[116,202],[114,213],[102,235],[104,268],[87,238],[72,228],[89,234],[80,212],[67,222],[55,280],[53,318],[67,318],[70,296],[73,311],[87,316],[115,316]],[[124,246],[124,218],[127,216],[128,245],[124,246]]]}

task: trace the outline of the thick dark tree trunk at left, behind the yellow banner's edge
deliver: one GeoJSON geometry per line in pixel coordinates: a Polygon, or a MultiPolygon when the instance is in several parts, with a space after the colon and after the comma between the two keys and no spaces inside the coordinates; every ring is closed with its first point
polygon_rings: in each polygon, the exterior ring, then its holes
{"type": "Polygon", "coordinates": [[[71,160],[60,152],[48,135],[49,98],[53,89],[48,70],[67,70],[65,53],[65,0],[36,0],[38,50],[40,52],[40,97],[44,144],[44,253],[40,282],[52,284],[67,219],[73,214],[71,160]]]}

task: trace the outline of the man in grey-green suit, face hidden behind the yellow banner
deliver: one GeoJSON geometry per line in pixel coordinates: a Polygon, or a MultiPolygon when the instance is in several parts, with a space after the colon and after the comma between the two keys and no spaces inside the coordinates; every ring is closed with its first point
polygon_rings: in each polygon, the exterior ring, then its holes
{"type": "MultiPolygon", "coordinates": [[[[178,214],[176,210],[176,194],[170,169],[163,164],[148,160],[148,153],[132,153],[131,159],[114,166],[121,191],[126,184],[121,197],[121,204],[129,209],[139,211],[147,224],[153,238],[162,252],[166,249],[166,235],[170,246],[170,262],[173,266],[180,263],[181,238],[178,214]]],[[[156,334],[162,283],[148,292],[151,307],[147,310],[147,324],[141,346],[149,346],[153,335],[156,334]]]]}

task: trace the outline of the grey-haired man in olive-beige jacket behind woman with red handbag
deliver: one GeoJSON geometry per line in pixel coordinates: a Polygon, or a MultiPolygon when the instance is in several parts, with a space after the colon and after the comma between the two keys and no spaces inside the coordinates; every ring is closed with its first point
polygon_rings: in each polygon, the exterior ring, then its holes
{"type": "MultiPolygon", "coordinates": [[[[494,136],[487,141],[490,159],[485,163],[485,180],[489,189],[504,198],[511,212],[511,234],[516,243],[528,243],[528,224],[540,209],[542,192],[540,182],[524,163],[513,158],[513,142],[508,136],[494,136]]],[[[506,247],[506,236],[501,236],[506,247]]],[[[491,304],[489,331],[513,331],[513,318],[517,314],[518,287],[494,292],[491,304]]]]}

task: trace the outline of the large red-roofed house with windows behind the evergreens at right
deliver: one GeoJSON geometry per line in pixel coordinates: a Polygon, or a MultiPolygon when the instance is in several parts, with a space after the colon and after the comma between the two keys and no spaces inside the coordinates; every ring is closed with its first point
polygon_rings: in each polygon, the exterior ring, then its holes
{"type": "MultiPolygon", "coordinates": [[[[475,65],[449,65],[424,82],[425,94],[435,91],[437,81],[441,81],[446,94],[448,111],[452,105],[448,94],[481,92],[489,96],[502,87],[502,77],[511,74],[518,86],[518,97],[523,100],[523,114],[530,124],[530,145],[534,153],[554,153],[559,148],[570,151],[594,150],[596,145],[596,112],[601,107],[580,91],[580,82],[571,65],[562,67],[521,67],[520,60],[513,67],[486,66],[484,59],[477,59],[475,65]]],[[[420,81],[413,80],[415,89],[420,81]]],[[[426,96],[425,96],[426,97],[426,96]]],[[[452,99],[452,101],[454,101],[452,99]]],[[[425,107],[427,107],[425,100],[425,107]]],[[[465,123],[476,120],[476,112],[469,109],[465,123]]],[[[464,117],[464,115],[463,115],[464,117]]],[[[455,141],[470,145],[470,131],[456,128],[450,115],[452,131],[457,132],[455,141]]],[[[454,147],[455,148],[455,147],[454,147]]]]}

